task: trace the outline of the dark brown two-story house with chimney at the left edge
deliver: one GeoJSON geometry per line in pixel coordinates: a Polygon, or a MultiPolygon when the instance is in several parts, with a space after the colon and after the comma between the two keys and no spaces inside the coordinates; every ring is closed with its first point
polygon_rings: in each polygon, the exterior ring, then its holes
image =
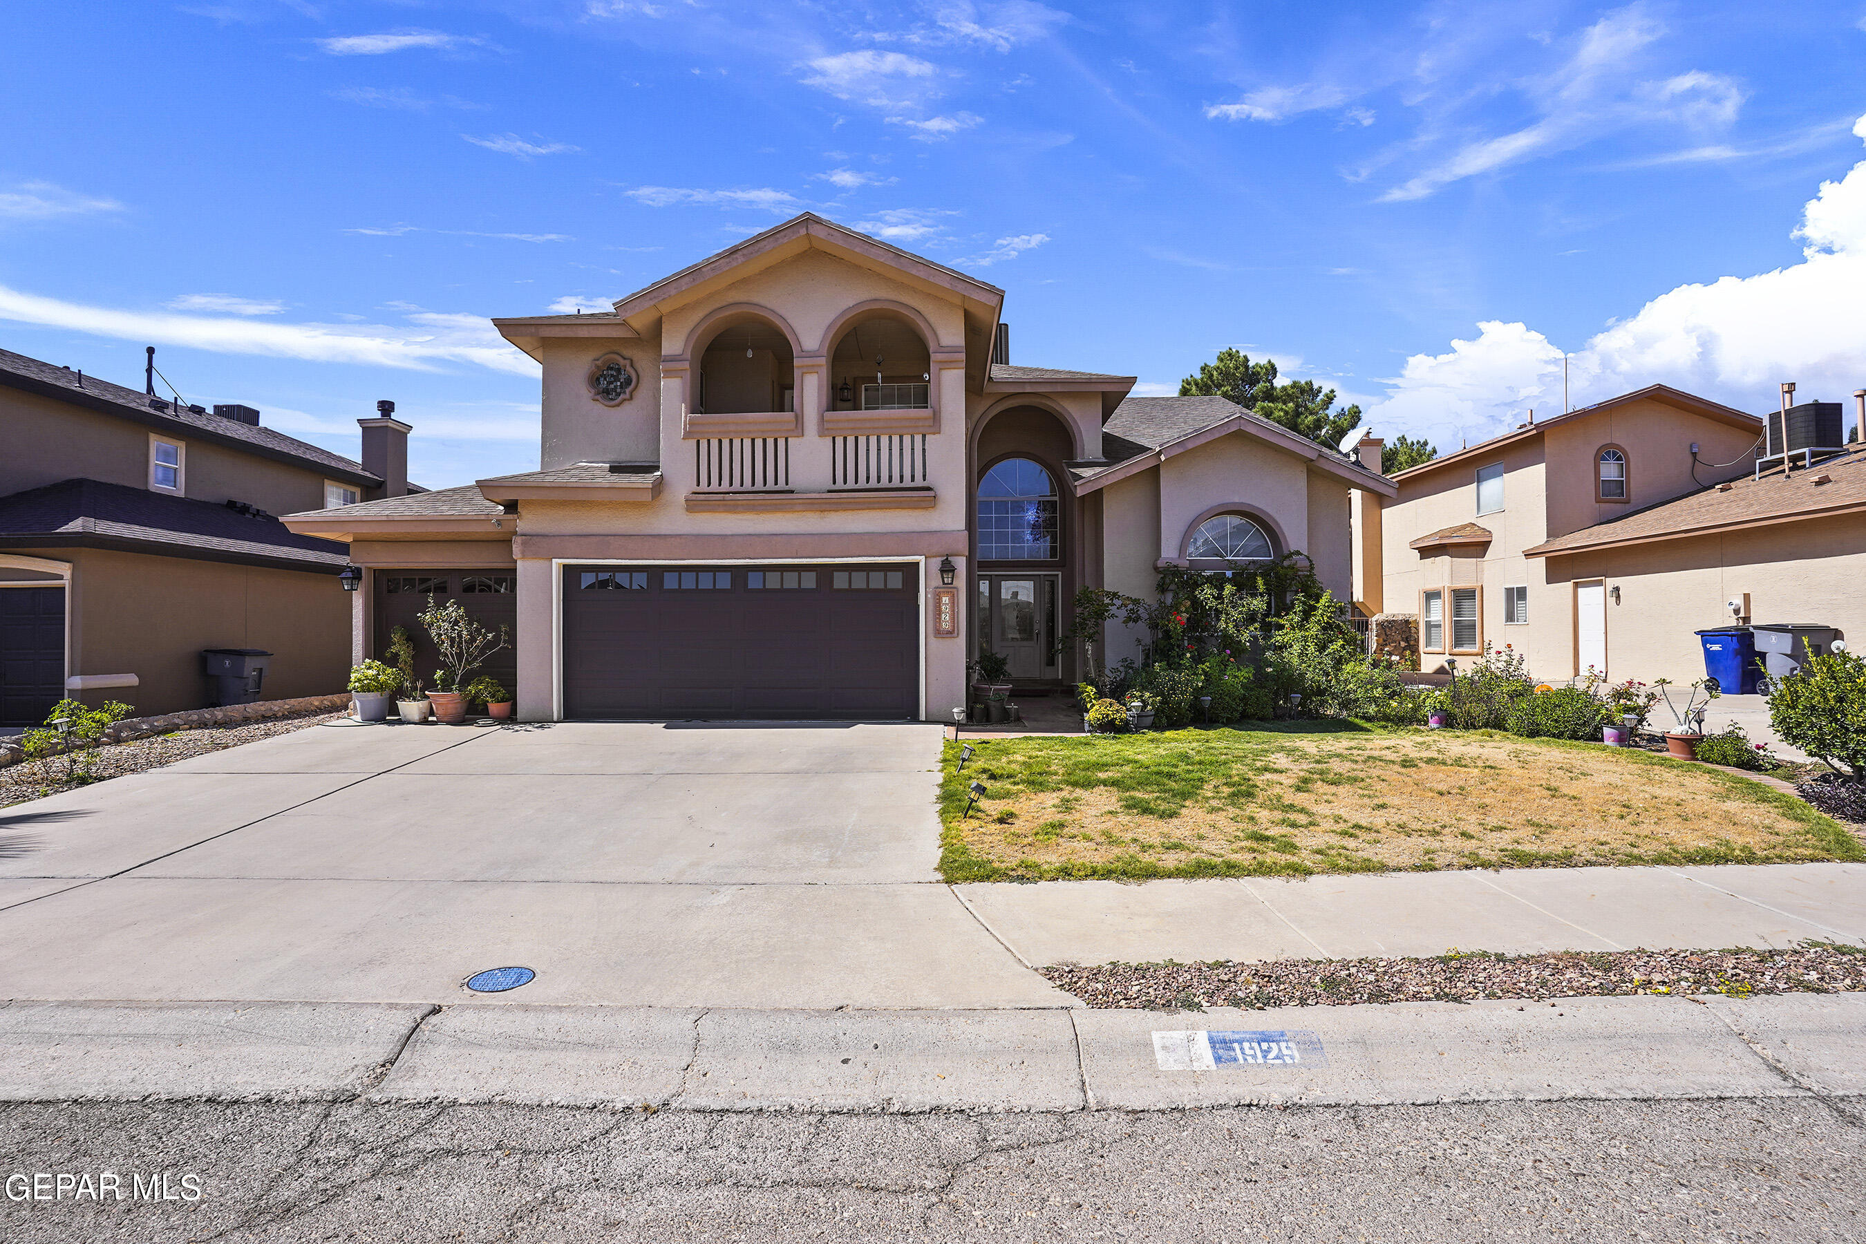
{"type": "Polygon", "coordinates": [[[405,491],[407,425],[362,423],[368,468],[252,407],[177,407],[0,351],[0,724],[43,722],[67,686],[200,709],[207,647],[274,653],[263,699],[343,690],[345,548],[272,515],[405,491]]]}

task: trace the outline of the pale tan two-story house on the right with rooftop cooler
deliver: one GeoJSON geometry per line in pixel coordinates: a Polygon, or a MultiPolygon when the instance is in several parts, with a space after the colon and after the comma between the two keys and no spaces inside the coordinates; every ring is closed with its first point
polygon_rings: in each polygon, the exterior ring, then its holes
{"type": "MultiPolygon", "coordinates": [[[[1700,679],[1694,632],[1743,593],[1756,621],[1859,614],[1821,528],[1788,522],[1832,494],[1799,472],[1750,481],[1762,436],[1756,416],[1653,384],[1403,470],[1357,517],[1364,608],[1416,615],[1426,671],[1508,643],[1551,681],[1700,679]]],[[[1862,552],[1862,533],[1842,543],[1862,552]]]]}

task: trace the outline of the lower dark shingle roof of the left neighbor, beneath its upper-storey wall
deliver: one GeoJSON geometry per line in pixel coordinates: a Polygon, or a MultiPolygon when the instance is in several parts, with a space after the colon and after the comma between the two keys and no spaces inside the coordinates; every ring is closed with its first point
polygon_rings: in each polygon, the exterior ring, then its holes
{"type": "Polygon", "coordinates": [[[343,545],[299,535],[271,515],[101,479],[62,479],[0,496],[0,545],[121,548],[332,574],[349,561],[343,545]]]}

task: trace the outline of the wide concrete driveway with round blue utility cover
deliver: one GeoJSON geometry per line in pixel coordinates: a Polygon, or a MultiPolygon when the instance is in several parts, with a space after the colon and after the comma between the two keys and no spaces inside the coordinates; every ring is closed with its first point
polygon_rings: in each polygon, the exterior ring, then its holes
{"type": "Polygon", "coordinates": [[[937,884],[939,740],[312,727],[22,804],[0,998],[1064,1005],[937,884]]]}

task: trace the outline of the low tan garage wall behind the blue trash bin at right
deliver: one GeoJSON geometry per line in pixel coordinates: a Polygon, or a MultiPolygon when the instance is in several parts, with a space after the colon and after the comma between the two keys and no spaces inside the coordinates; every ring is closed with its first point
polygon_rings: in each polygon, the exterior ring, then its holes
{"type": "Polygon", "coordinates": [[[1756,623],[1840,627],[1855,651],[1866,643],[1862,515],[1549,561],[1549,578],[1564,593],[1575,580],[1607,582],[1607,673],[1614,681],[1702,679],[1704,649],[1696,630],[1730,625],[1724,602],[1745,591],[1756,623]],[[1620,587],[1618,604],[1612,587],[1620,587]]]}

